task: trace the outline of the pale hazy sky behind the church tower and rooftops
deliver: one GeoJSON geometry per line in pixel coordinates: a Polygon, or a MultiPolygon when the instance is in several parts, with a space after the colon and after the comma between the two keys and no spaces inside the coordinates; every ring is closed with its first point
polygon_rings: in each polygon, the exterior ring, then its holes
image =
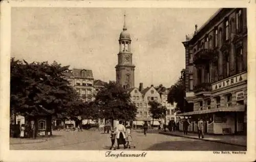
{"type": "Polygon", "coordinates": [[[173,85],[185,68],[182,41],[217,8],[12,8],[11,57],[57,61],[116,80],[119,35],[131,34],[135,86],[173,85]]]}

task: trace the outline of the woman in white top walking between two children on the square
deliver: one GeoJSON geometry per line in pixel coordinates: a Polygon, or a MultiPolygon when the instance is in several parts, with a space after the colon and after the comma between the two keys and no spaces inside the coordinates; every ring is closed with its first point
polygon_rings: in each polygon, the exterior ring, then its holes
{"type": "MultiPolygon", "coordinates": [[[[132,133],[131,133],[131,126],[127,125],[126,129],[124,125],[122,124],[122,121],[119,121],[119,124],[117,127],[111,131],[111,148],[110,150],[114,149],[116,150],[115,147],[115,142],[117,140],[117,149],[119,148],[119,145],[123,145],[123,148],[131,148],[131,143],[132,143],[132,133]]],[[[135,146],[134,146],[135,147],[135,146]]]]}

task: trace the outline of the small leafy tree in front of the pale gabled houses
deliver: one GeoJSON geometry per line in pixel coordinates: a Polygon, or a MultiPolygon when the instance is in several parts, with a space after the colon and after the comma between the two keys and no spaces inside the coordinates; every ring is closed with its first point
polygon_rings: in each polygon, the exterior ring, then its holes
{"type": "Polygon", "coordinates": [[[150,102],[148,102],[148,104],[150,105],[150,113],[151,113],[151,117],[153,119],[152,125],[154,127],[154,119],[163,118],[166,113],[166,107],[163,107],[157,101],[150,101],[150,102]]]}

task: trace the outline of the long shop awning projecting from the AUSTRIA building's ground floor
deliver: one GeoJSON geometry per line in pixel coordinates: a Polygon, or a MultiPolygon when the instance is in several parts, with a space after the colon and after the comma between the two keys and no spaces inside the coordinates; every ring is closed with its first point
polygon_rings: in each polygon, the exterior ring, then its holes
{"type": "Polygon", "coordinates": [[[233,106],[233,107],[223,107],[223,108],[214,108],[209,110],[201,110],[201,111],[191,111],[179,113],[179,116],[188,116],[195,114],[204,114],[204,113],[214,113],[214,112],[243,112],[245,111],[245,105],[233,106]]]}

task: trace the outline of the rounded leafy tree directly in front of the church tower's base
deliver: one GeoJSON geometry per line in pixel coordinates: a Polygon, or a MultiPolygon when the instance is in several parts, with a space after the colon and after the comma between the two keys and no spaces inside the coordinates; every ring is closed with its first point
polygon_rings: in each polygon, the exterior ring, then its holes
{"type": "Polygon", "coordinates": [[[131,103],[130,94],[116,83],[106,84],[98,92],[94,102],[102,118],[111,119],[112,121],[135,119],[137,108],[131,103]]]}

